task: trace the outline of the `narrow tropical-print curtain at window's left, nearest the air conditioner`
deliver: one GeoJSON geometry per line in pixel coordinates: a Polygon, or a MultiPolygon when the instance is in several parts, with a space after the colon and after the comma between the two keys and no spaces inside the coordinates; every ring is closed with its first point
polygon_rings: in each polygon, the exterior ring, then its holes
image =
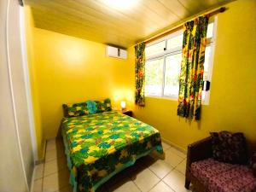
{"type": "Polygon", "coordinates": [[[135,103],[145,106],[145,43],[135,46],[135,103]]]}

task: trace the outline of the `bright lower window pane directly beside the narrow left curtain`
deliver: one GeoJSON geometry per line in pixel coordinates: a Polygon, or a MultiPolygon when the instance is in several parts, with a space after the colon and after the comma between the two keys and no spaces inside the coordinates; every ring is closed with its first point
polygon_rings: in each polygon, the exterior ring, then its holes
{"type": "Polygon", "coordinates": [[[145,64],[145,93],[150,96],[161,96],[163,82],[163,63],[160,58],[154,61],[147,61],[145,64]]]}

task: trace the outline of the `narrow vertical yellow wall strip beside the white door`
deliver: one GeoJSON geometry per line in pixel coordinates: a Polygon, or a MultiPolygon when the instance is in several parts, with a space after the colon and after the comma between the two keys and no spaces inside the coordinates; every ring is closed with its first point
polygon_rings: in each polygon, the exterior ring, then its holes
{"type": "Polygon", "coordinates": [[[38,160],[44,159],[44,134],[42,129],[41,112],[39,105],[39,95],[38,95],[38,84],[37,76],[35,73],[36,66],[34,63],[34,23],[32,20],[32,12],[28,6],[25,6],[26,15],[26,48],[27,48],[27,62],[30,71],[30,83],[31,83],[31,95],[32,95],[32,105],[33,105],[33,115],[34,115],[34,126],[36,132],[36,140],[38,147],[38,160]]]}

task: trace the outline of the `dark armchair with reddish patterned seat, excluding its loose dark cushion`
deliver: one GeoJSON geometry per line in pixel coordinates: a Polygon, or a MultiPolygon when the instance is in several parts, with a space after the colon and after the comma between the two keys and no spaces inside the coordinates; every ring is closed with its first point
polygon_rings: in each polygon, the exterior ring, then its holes
{"type": "MultiPolygon", "coordinates": [[[[230,164],[215,160],[212,137],[189,144],[185,188],[192,183],[196,192],[255,192],[256,177],[246,164],[230,164]]],[[[248,161],[247,161],[248,162],[248,161]]]]}

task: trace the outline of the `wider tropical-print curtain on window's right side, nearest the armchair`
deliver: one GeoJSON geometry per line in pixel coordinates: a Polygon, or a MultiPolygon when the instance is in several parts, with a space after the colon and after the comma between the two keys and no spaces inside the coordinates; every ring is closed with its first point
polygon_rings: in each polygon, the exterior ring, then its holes
{"type": "Polygon", "coordinates": [[[177,115],[189,119],[201,118],[207,26],[208,16],[201,16],[183,26],[183,59],[179,78],[177,115]]]}

